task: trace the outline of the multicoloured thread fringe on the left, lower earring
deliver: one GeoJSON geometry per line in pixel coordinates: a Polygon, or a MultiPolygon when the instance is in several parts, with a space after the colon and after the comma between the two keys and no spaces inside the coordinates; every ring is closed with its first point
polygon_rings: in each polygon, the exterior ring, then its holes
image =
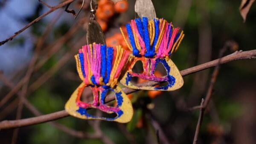
{"type": "Polygon", "coordinates": [[[112,48],[96,43],[82,46],[75,55],[79,77],[86,85],[113,88],[122,68],[130,61],[129,54],[121,46],[112,48]]]}

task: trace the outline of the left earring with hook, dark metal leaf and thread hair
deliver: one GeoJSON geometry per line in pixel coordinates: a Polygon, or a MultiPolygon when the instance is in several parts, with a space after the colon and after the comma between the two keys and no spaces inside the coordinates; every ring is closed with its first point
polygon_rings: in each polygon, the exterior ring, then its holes
{"type": "MultiPolygon", "coordinates": [[[[93,11],[91,11],[94,14],[93,11]]],[[[98,26],[94,17],[91,17],[87,29],[88,43],[98,41],[105,43],[102,29],[98,26]],[[88,32],[91,32],[88,34],[88,32]],[[94,32],[94,33],[93,33],[94,32]],[[101,33],[102,32],[102,33],[101,33]]],[[[83,81],[73,92],[65,105],[66,111],[77,118],[100,119],[126,123],[131,120],[133,108],[131,101],[122,89],[117,86],[117,81],[123,67],[130,62],[130,52],[117,46],[107,47],[101,44],[89,44],[79,49],[75,55],[77,71],[83,81]],[[81,101],[84,88],[89,86],[93,92],[93,102],[81,101]],[[117,105],[110,107],[105,104],[105,98],[109,91],[115,95],[117,105]],[[116,114],[114,118],[98,117],[87,112],[88,109],[99,109],[108,114],[116,114]]]]}

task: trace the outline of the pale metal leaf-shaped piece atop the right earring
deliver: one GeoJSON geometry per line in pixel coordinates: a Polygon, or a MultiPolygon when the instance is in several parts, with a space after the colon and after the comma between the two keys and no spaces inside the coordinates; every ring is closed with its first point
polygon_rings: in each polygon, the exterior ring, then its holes
{"type": "Polygon", "coordinates": [[[153,20],[157,17],[151,0],[136,0],[135,12],[140,18],[148,17],[148,20],[153,20]]]}

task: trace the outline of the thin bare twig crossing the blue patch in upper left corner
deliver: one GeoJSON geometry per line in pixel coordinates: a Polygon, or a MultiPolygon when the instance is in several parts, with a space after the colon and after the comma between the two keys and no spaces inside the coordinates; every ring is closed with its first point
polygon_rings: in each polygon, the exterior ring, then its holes
{"type": "Polygon", "coordinates": [[[27,24],[25,27],[23,27],[23,28],[20,29],[19,31],[15,32],[14,35],[12,35],[11,37],[7,38],[6,40],[1,41],[1,42],[0,42],[0,46],[3,45],[3,44],[5,44],[5,43],[8,42],[9,40],[12,40],[14,37],[16,37],[17,35],[19,35],[21,32],[23,32],[23,31],[26,30],[27,28],[29,28],[29,26],[32,26],[32,24],[34,24],[34,23],[38,22],[39,20],[41,20],[43,17],[47,16],[48,14],[54,12],[54,11],[57,10],[57,9],[60,9],[60,8],[63,7],[63,6],[66,6],[66,5],[69,4],[69,3],[72,3],[73,1],[74,1],[74,0],[66,0],[66,1],[64,1],[63,3],[60,3],[60,4],[56,5],[56,6],[51,7],[51,9],[50,9],[48,12],[42,14],[40,17],[36,18],[35,20],[33,20],[32,22],[30,22],[29,24],[27,24]]]}

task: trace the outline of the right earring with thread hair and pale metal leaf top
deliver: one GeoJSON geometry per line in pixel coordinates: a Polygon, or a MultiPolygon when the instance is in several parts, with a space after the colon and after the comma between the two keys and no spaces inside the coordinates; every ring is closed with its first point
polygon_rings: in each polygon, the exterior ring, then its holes
{"type": "MultiPolygon", "coordinates": [[[[140,1],[141,0],[138,0],[138,3],[140,1]]],[[[148,1],[143,4],[145,5],[146,3],[149,3],[149,6],[141,7],[152,8],[153,5],[151,1],[148,1]]],[[[138,5],[135,4],[135,8],[136,6],[138,8],[138,5]]],[[[144,14],[148,15],[149,17],[154,17],[154,11],[153,13],[145,11],[148,10],[144,9],[144,13],[140,14],[142,16],[144,14]]],[[[120,30],[122,32],[121,28],[120,30]]],[[[164,19],[154,18],[153,20],[148,21],[147,17],[142,17],[131,20],[131,24],[126,25],[126,30],[130,43],[128,43],[125,39],[123,32],[122,34],[128,48],[133,52],[131,54],[131,57],[133,57],[134,60],[128,67],[128,71],[121,79],[121,84],[131,89],[167,91],[179,89],[181,86],[183,86],[183,78],[180,74],[180,71],[169,58],[177,50],[181,40],[184,37],[183,31],[180,33],[178,32],[180,28],[174,28],[174,26],[172,26],[172,23],[168,23],[164,19]],[[132,68],[137,61],[142,61],[143,63],[143,73],[141,74],[132,71],[132,68]],[[154,71],[158,63],[162,63],[165,67],[167,72],[167,75],[165,77],[157,77],[154,75],[154,71]],[[148,81],[168,82],[168,85],[159,87],[138,87],[131,83],[132,77],[138,77],[148,81]]]]}

